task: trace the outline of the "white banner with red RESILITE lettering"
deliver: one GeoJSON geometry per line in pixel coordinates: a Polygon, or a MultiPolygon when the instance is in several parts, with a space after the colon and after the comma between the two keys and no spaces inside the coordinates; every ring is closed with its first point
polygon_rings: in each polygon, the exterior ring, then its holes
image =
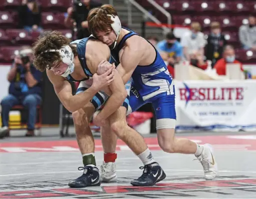
{"type": "Polygon", "coordinates": [[[256,130],[256,80],[175,81],[176,130],[256,130]]]}

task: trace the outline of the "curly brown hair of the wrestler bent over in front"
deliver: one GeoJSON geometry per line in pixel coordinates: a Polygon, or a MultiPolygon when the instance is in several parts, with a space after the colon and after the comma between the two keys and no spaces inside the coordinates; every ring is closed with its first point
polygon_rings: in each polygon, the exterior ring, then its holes
{"type": "MultiPolygon", "coordinates": [[[[46,31],[33,44],[34,65],[40,70],[51,69],[59,64],[62,58],[59,52],[45,52],[50,49],[61,49],[65,45],[70,45],[71,40],[59,31],[46,31]]],[[[76,46],[70,45],[74,56],[77,55],[76,46]]]]}

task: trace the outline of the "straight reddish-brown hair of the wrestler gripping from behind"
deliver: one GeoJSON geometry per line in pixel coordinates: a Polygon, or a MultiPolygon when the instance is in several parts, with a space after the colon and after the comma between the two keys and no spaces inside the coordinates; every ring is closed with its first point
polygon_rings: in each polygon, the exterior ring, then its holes
{"type": "Polygon", "coordinates": [[[106,32],[112,29],[111,24],[113,21],[107,14],[113,14],[117,16],[117,11],[112,5],[104,4],[100,7],[91,9],[88,14],[88,30],[91,34],[96,36],[98,31],[106,32]]]}

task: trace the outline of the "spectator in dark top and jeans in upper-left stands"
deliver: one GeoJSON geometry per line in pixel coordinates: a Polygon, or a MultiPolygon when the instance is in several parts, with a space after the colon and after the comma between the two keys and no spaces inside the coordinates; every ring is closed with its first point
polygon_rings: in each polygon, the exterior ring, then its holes
{"type": "Polygon", "coordinates": [[[36,0],[23,0],[19,7],[19,25],[28,32],[43,33],[41,24],[41,7],[36,0]]]}

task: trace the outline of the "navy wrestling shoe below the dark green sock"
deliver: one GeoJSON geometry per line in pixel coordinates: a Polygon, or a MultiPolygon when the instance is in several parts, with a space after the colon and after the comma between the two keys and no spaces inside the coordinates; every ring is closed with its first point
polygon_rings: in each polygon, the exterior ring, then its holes
{"type": "Polygon", "coordinates": [[[100,173],[99,169],[95,166],[79,167],[79,171],[84,170],[82,176],[69,183],[71,188],[85,188],[89,186],[100,186],[100,173]]]}

